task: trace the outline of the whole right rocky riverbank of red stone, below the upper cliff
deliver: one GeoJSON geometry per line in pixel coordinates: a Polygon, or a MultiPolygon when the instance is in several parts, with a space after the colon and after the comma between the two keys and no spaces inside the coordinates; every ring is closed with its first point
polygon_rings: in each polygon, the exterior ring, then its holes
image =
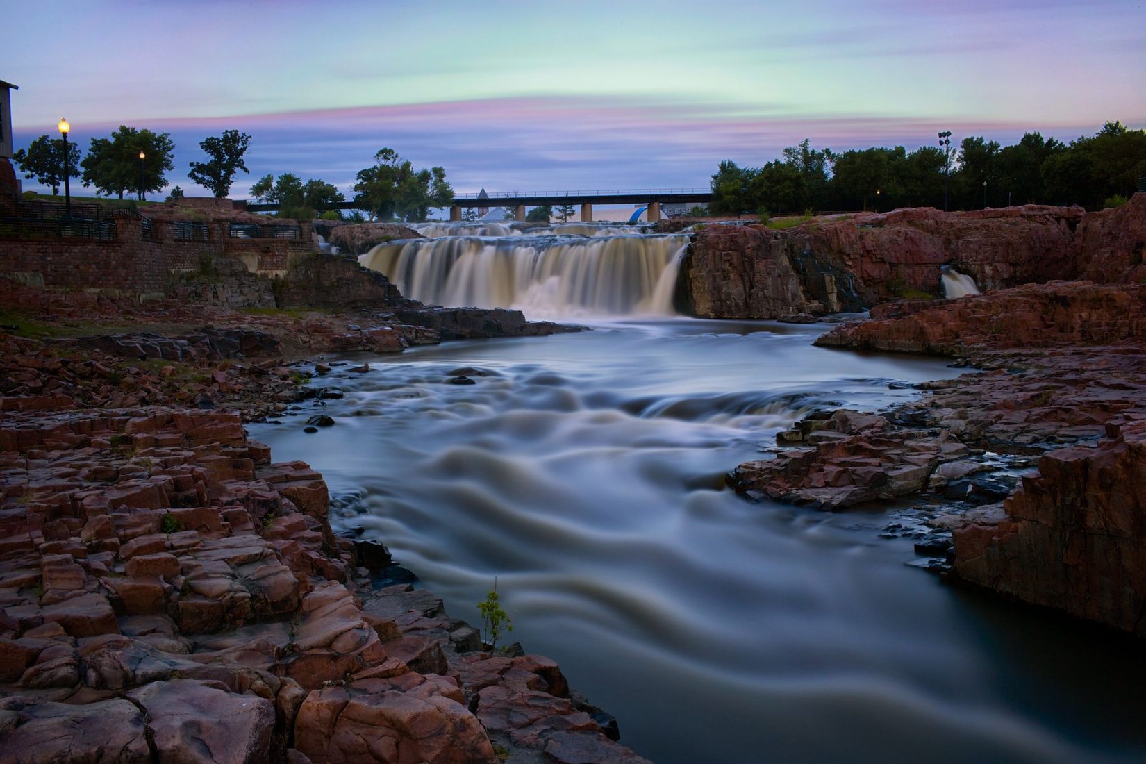
{"type": "Polygon", "coordinates": [[[902,499],[893,533],[959,580],[1146,636],[1146,286],[1054,282],[880,306],[818,344],[963,356],[911,404],[837,411],[740,465],[749,497],[902,499]],[[909,523],[910,525],[910,523],[909,523]],[[950,531],[950,535],[948,533],[950,531]]]}

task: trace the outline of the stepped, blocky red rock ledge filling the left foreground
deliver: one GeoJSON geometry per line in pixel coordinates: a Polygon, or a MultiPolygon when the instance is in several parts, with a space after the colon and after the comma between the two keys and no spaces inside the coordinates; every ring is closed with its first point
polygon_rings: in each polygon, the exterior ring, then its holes
{"type": "Polygon", "coordinates": [[[322,476],[272,463],[237,413],[11,400],[6,761],[644,761],[552,661],[479,652],[432,594],[375,589],[322,476]]]}

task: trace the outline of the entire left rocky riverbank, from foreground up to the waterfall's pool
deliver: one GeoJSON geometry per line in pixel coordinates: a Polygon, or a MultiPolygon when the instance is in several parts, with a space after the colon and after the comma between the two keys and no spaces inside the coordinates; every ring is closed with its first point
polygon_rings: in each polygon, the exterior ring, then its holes
{"type": "Polygon", "coordinates": [[[557,328],[5,289],[9,761],[645,761],[551,660],[482,651],[433,594],[379,589],[385,550],[336,536],[322,476],[243,430],[317,389],[327,368],[292,355],[557,328]]]}

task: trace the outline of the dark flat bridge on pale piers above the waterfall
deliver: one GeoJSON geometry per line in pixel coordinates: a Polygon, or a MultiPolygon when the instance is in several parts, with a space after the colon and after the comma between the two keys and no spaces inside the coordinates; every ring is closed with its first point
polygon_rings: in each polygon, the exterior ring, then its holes
{"type": "MultiPolygon", "coordinates": [[[[647,204],[649,222],[654,223],[660,220],[660,205],[662,204],[707,204],[712,202],[713,192],[708,188],[626,188],[611,190],[581,190],[581,191],[508,191],[500,194],[477,194],[461,195],[454,197],[454,204],[449,208],[449,219],[457,221],[462,219],[462,210],[468,207],[513,207],[513,218],[525,220],[526,207],[540,207],[544,205],[581,205],[581,220],[592,220],[594,204],[647,204]]],[[[250,212],[274,212],[278,210],[277,204],[251,204],[246,203],[250,212]]],[[[333,210],[361,210],[361,203],[339,202],[331,205],[333,210]]]]}

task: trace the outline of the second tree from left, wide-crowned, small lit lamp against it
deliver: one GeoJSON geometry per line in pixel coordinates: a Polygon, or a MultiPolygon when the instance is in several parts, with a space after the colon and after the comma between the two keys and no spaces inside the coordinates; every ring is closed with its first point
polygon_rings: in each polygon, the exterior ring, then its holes
{"type": "Polygon", "coordinates": [[[135,191],[142,200],[147,192],[155,194],[167,186],[164,173],[174,168],[174,150],[168,133],[120,125],[111,137],[92,139],[81,163],[84,186],[95,186],[97,194],[120,199],[126,191],[135,191]]]}

